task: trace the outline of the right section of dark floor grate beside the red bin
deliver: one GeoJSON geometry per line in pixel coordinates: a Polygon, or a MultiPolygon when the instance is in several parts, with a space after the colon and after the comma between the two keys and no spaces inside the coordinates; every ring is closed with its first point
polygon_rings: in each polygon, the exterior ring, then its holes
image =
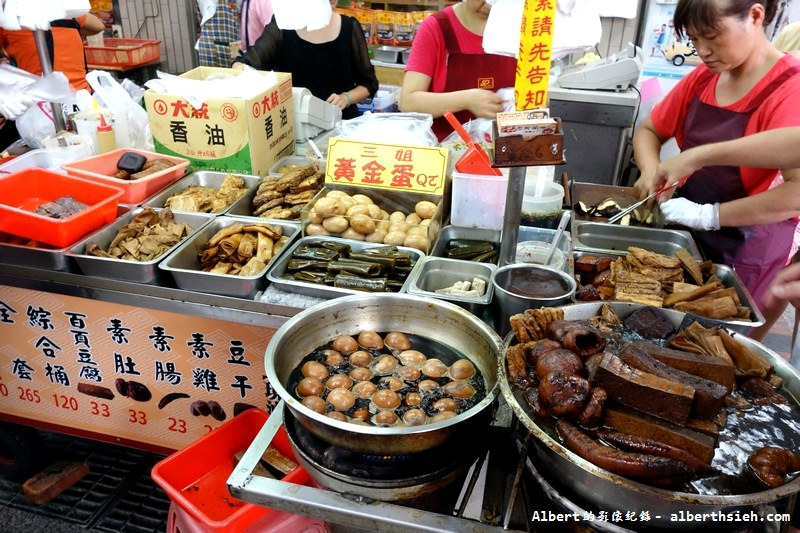
{"type": "Polygon", "coordinates": [[[163,533],[167,528],[170,499],[150,478],[150,470],[161,457],[152,457],[141,474],[125,489],[93,531],[109,533],[163,533]]]}

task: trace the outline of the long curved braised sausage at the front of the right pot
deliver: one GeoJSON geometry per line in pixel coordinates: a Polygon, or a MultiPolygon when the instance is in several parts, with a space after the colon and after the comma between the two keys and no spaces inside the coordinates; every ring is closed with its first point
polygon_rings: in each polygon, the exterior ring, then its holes
{"type": "Polygon", "coordinates": [[[566,420],[556,422],[556,430],[571,452],[620,476],[687,479],[694,474],[686,463],[669,457],[626,452],[600,444],[566,420]]]}

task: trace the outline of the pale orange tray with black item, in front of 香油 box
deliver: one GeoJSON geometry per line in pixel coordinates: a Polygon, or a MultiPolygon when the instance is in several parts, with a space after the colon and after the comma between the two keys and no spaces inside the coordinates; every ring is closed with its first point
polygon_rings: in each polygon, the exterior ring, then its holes
{"type": "Polygon", "coordinates": [[[136,150],[134,148],[118,148],[105,154],[64,163],[61,165],[61,168],[71,176],[86,178],[97,183],[119,187],[122,189],[122,197],[119,199],[120,203],[138,205],[167,185],[177,181],[186,173],[187,166],[189,166],[189,160],[182,157],[157,154],[155,152],[136,150]],[[148,161],[151,159],[169,159],[175,163],[175,165],[165,168],[164,170],[159,170],[158,172],[153,172],[149,176],[139,178],[138,180],[121,180],[115,178],[114,174],[117,173],[117,161],[119,161],[119,158],[122,157],[122,154],[125,152],[141,154],[145,156],[148,161]]]}

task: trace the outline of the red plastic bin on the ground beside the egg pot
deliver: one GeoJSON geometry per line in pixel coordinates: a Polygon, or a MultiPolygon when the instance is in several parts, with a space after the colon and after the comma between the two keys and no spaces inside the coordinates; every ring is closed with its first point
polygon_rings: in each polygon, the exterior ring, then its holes
{"type": "MultiPolygon", "coordinates": [[[[287,513],[237,500],[227,487],[234,454],[250,446],[268,417],[265,411],[248,409],[157,463],[150,476],[203,531],[272,530],[270,523],[285,522],[287,513]]],[[[295,459],[283,426],[272,445],[295,459]]],[[[281,481],[311,484],[310,476],[299,466],[281,481]]]]}

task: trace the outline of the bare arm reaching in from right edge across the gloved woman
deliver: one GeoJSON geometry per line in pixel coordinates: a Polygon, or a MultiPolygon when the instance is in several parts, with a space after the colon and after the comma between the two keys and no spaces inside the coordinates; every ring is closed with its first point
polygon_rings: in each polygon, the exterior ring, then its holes
{"type": "Polygon", "coordinates": [[[800,127],[778,128],[733,141],[705,144],[663,161],[658,179],[675,183],[703,167],[724,165],[756,168],[800,167],[800,127]]]}

